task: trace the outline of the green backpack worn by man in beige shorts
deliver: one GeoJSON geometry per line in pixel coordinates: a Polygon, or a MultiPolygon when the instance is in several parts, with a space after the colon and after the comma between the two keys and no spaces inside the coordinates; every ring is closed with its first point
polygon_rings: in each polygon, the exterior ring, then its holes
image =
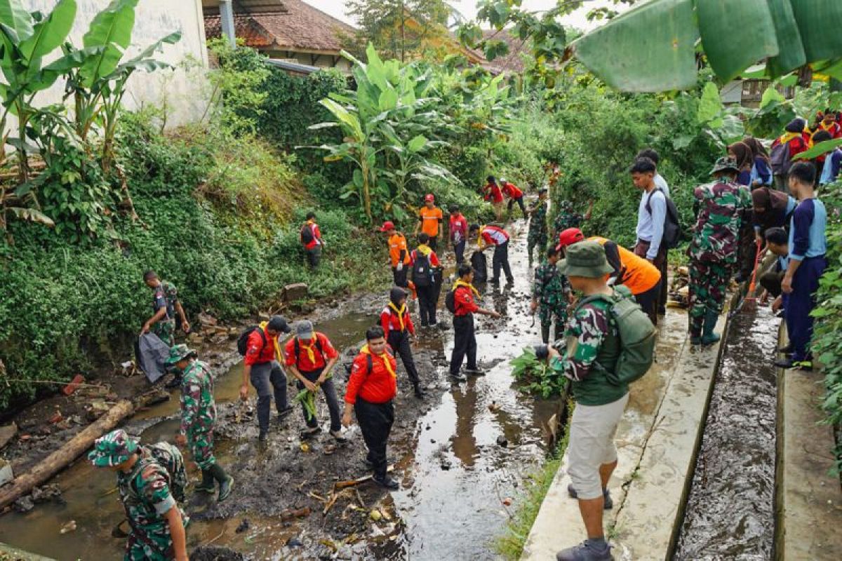
{"type": "Polygon", "coordinates": [[[605,373],[605,378],[616,385],[631,384],[642,378],[652,366],[655,352],[655,326],[649,316],[634,301],[632,292],[626,286],[614,288],[614,294],[596,294],[582,299],[577,310],[588,302],[602,300],[609,304],[612,319],[617,325],[620,338],[620,355],[612,370],[600,363],[594,363],[605,373]]]}

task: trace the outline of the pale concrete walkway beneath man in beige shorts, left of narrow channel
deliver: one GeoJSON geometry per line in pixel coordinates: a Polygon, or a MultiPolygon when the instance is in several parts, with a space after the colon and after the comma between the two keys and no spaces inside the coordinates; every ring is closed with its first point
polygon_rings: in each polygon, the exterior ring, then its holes
{"type": "MultiPolygon", "coordinates": [[[[724,324],[723,315],[719,332],[724,324]]],[[[614,509],[606,512],[605,528],[615,558],[628,561],[667,558],[719,352],[719,345],[690,352],[684,310],[669,309],[658,331],[657,362],[632,384],[617,431],[619,464],[609,485],[614,509]]],[[[585,537],[578,503],[568,497],[567,467],[565,454],[526,541],[524,560],[554,559],[558,550],[585,537]]]]}

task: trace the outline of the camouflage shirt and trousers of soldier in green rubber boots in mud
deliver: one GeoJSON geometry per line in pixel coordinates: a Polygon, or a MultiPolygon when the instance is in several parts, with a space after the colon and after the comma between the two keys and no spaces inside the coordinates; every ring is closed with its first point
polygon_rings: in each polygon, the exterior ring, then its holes
{"type": "Polygon", "coordinates": [[[187,436],[193,461],[203,471],[216,463],[213,455],[215,424],[213,376],[207,364],[195,360],[184,368],[181,380],[181,433],[187,436]]]}

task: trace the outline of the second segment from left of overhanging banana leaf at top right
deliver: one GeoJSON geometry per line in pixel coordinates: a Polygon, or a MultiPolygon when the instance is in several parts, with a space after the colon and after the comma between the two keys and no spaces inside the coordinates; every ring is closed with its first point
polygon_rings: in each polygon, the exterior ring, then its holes
{"type": "Polygon", "coordinates": [[[695,13],[707,60],[724,82],[778,54],[766,0],[705,0],[696,3],[695,13]]]}

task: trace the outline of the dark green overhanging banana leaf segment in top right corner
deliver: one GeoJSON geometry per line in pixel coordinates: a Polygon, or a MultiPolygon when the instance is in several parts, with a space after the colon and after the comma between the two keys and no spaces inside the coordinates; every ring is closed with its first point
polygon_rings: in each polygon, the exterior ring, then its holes
{"type": "Polygon", "coordinates": [[[796,0],[792,12],[801,29],[808,62],[842,56],[842,2],[796,0]]]}

